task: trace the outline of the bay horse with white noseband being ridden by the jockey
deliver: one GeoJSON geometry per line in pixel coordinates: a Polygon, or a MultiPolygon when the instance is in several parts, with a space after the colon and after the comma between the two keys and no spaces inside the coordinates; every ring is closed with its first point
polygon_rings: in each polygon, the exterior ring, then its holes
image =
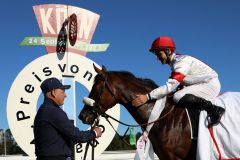
{"type": "MultiPolygon", "coordinates": [[[[155,101],[135,107],[132,100],[138,94],[147,94],[158,86],[149,79],[136,78],[126,71],[107,71],[94,65],[97,75],[89,98],[95,107],[84,105],[79,119],[85,124],[93,124],[96,112],[105,113],[119,103],[123,105],[138,124],[146,124],[155,101]]],[[[191,139],[191,127],[184,107],[177,107],[171,96],[167,96],[161,120],[154,123],[149,133],[155,154],[161,160],[194,160],[197,143],[191,139]],[[165,116],[164,116],[165,115],[165,116]]],[[[141,126],[143,130],[146,126],[141,126]]]]}

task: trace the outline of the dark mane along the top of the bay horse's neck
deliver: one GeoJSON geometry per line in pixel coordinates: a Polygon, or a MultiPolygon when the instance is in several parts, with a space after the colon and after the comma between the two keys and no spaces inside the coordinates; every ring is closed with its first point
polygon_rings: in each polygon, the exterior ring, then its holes
{"type": "Polygon", "coordinates": [[[134,81],[138,81],[143,85],[152,87],[152,88],[157,88],[158,85],[151,79],[148,78],[137,78],[134,74],[132,74],[131,72],[128,71],[109,71],[108,74],[118,74],[118,75],[123,75],[124,77],[126,77],[129,80],[134,80],[134,81]]]}

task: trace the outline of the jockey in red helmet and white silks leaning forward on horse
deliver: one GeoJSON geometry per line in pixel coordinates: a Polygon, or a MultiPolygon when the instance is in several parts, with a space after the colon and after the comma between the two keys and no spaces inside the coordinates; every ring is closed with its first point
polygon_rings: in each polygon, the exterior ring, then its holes
{"type": "Polygon", "coordinates": [[[176,91],[181,84],[184,88],[174,93],[174,102],[179,105],[206,110],[209,121],[208,127],[217,125],[225,112],[225,109],[211,102],[220,92],[221,85],[218,74],[196,58],[175,54],[175,49],[175,43],[170,37],[158,37],[153,41],[149,51],[155,54],[162,64],[168,64],[172,73],[165,85],[146,95],[136,95],[132,104],[140,106],[148,100],[160,99],[176,91]]]}

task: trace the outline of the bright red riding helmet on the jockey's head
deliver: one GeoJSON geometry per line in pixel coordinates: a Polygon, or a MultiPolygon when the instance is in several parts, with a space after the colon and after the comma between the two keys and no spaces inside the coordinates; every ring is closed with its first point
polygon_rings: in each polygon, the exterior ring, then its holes
{"type": "Polygon", "coordinates": [[[149,49],[150,52],[155,50],[169,48],[171,51],[176,49],[174,41],[170,37],[162,36],[155,39],[152,43],[152,47],[149,49]]]}

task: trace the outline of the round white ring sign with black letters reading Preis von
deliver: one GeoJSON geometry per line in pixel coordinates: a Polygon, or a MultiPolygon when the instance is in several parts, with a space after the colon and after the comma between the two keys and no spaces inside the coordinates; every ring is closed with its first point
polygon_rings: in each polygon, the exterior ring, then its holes
{"type": "MultiPolygon", "coordinates": [[[[58,60],[56,53],[35,59],[18,74],[9,91],[7,99],[9,127],[18,145],[31,157],[35,157],[35,147],[34,144],[31,144],[34,139],[32,126],[37,113],[37,102],[41,94],[41,82],[50,77],[62,80],[63,75],[71,75],[74,82],[80,83],[90,91],[96,76],[93,63],[100,68],[99,65],[84,56],[75,53],[66,54],[61,61],[58,60]]],[[[108,110],[107,113],[119,120],[119,104],[108,110]]],[[[95,157],[107,148],[115,135],[115,132],[104,118],[100,118],[100,125],[105,127],[105,132],[101,138],[97,139],[99,144],[95,148],[95,157]]],[[[112,121],[112,125],[117,129],[117,122],[112,121]]],[[[75,146],[76,159],[81,160],[83,158],[85,146],[86,143],[75,146]]],[[[91,149],[89,149],[88,153],[88,157],[90,156],[91,149]]]]}

